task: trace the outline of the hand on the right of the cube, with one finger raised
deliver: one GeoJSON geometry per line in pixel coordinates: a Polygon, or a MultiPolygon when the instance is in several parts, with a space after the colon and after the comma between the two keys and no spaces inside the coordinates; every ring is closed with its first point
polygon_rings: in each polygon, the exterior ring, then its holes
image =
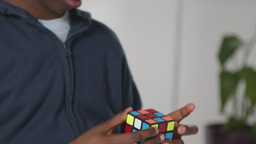
{"type": "Polygon", "coordinates": [[[191,112],[195,110],[194,104],[188,104],[181,109],[170,113],[167,116],[171,116],[175,120],[175,128],[173,132],[173,140],[163,141],[163,144],[183,144],[181,137],[183,135],[195,135],[198,132],[196,125],[182,125],[179,122],[187,117],[191,112]]]}

